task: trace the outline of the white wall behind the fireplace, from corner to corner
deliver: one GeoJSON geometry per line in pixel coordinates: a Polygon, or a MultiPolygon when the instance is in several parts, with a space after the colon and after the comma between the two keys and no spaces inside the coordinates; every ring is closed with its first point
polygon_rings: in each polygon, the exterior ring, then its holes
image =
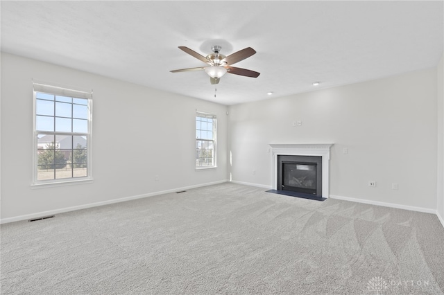
{"type": "Polygon", "coordinates": [[[436,68],[234,105],[229,129],[233,181],[271,187],[270,143],[334,143],[330,195],[436,211],[436,68]]]}

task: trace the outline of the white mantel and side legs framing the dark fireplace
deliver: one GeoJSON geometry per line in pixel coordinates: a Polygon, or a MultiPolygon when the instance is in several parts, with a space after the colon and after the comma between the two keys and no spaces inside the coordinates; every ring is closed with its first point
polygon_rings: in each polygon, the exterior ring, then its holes
{"type": "Polygon", "coordinates": [[[318,156],[322,157],[322,197],[330,196],[330,147],[333,143],[271,144],[273,174],[271,187],[278,189],[278,156],[318,156]]]}

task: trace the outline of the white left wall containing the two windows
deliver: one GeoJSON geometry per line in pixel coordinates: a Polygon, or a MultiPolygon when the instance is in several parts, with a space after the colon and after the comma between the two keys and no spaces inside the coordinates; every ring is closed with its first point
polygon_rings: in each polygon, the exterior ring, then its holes
{"type": "Polygon", "coordinates": [[[224,105],[2,53],[1,220],[225,181],[226,111],[224,105]],[[94,90],[92,184],[31,188],[33,78],[94,90]],[[218,118],[214,170],[194,169],[196,109],[218,118]]]}

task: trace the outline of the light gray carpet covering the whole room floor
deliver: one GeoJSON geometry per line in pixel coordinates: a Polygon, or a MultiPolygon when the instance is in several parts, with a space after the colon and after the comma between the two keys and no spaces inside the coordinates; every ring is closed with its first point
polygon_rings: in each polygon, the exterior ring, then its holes
{"type": "Polygon", "coordinates": [[[1,225],[1,294],[443,294],[436,215],[195,188],[1,225]]]}

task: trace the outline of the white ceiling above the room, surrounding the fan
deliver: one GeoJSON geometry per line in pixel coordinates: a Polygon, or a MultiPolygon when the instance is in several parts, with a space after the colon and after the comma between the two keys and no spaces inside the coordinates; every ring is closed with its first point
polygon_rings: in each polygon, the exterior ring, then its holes
{"type": "Polygon", "coordinates": [[[443,34],[443,1],[1,1],[1,51],[224,105],[430,68],[443,34]],[[212,45],[261,75],[169,72],[212,45]]]}

